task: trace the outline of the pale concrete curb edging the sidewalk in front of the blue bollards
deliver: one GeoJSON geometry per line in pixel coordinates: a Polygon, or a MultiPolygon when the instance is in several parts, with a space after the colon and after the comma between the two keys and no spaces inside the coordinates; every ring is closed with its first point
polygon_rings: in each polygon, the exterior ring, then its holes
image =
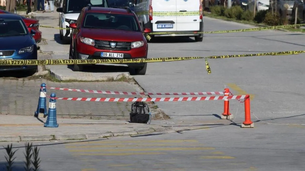
{"type": "Polygon", "coordinates": [[[50,140],[84,140],[94,138],[107,138],[124,135],[139,135],[148,134],[152,132],[170,133],[170,128],[145,128],[134,131],[113,131],[103,133],[88,133],[88,134],[55,134],[55,135],[32,135],[32,136],[3,136],[0,137],[0,142],[12,141],[50,141],[50,140]]]}

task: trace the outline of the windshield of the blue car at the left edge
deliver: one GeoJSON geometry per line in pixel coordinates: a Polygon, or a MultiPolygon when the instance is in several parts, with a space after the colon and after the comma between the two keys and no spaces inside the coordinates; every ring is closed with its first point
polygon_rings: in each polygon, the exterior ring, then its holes
{"type": "Polygon", "coordinates": [[[22,20],[0,19],[0,37],[26,35],[27,30],[22,20]]]}

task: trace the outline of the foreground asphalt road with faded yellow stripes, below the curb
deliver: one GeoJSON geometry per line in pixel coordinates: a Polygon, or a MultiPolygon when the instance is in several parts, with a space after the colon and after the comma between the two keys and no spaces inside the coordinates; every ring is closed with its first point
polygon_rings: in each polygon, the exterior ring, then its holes
{"type": "MultiPolygon", "coordinates": [[[[229,125],[182,134],[33,144],[40,148],[41,171],[302,171],[304,136],[298,132],[304,128],[260,125],[242,129],[229,125]]],[[[22,147],[16,152],[16,168],[23,167],[23,146],[23,142],[13,144],[22,147]]],[[[0,153],[2,168],[3,148],[0,153]]]]}

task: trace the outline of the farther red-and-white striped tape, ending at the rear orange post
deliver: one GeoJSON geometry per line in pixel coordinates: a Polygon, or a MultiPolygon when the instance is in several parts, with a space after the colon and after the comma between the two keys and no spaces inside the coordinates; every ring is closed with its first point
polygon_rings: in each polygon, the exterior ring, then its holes
{"type": "Polygon", "coordinates": [[[74,92],[124,94],[124,95],[222,95],[224,94],[224,92],[118,92],[118,91],[103,91],[103,90],[67,89],[67,88],[57,88],[57,87],[49,87],[49,89],[74,91],[74,92]]]}

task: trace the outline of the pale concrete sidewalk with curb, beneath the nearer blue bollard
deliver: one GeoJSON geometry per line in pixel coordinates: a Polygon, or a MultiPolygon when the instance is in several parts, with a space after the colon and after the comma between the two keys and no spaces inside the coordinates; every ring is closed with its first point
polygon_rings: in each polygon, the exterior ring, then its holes
{"type": "Polygon", "coordinates": [[[92,139],[173,131],[160,125],[136,124],[122,120],[62,118],[57,118],[59,127],[52,128],[44,127],[46,119],[47,117],[0,115],[0,141],[92,139]]]}

